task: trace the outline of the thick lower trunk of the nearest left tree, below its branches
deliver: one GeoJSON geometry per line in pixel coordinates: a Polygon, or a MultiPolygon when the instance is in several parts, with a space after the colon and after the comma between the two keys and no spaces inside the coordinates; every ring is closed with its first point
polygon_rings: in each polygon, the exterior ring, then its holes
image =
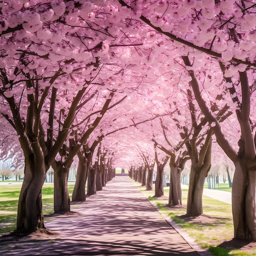
{"type": "Polygon", "coordinates": [[[44,229],[42,186],[45,182],[47,166],[42,159],[25,159],[25,176],[18,202],[17,230],[32,232],[44,229]]]}

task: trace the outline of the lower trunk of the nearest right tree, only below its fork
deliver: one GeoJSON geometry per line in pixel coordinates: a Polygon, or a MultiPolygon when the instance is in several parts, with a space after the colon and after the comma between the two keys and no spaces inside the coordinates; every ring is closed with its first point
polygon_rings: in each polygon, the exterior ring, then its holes
{"type": "Polygon", "coordinates": [[[234,162],[232,213],[234,237],[256,241],[256,170],[247,168],[244,156],[234,162]]]}

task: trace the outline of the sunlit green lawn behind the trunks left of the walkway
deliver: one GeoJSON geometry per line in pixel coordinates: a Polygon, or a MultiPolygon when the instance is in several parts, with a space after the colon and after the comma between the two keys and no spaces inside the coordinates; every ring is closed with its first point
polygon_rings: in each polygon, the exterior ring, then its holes
{"type": "MultiPolygon", "coordinates": [[[[16,229],[18,198],[22,182],[0,182],[0,234],[16,229]]],[[[70,196],[74,182],[68,184],[70,196]]],[[[42,188],[43,213],[54,212],[53,183],[45,183],[42,188]]]]}

